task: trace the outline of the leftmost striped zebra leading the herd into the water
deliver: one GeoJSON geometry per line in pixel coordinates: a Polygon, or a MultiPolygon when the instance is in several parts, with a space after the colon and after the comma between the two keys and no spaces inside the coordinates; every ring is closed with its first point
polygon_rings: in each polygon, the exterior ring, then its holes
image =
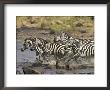
{"type": "Polygon", "coordinates": [[[26,49],[35,51],[36,57],[37,57],[36,59],[41,61],[41,57],[43,57],[43,59],[45,59],[45,54],[42,50],[42,47],[44,47],[46,43],[47,43],[47,41],[42,38],[32,38],[32,37],[26,38],[24,40],[23,48],[21,48],[21,51],[24,51],[26,49]]]}

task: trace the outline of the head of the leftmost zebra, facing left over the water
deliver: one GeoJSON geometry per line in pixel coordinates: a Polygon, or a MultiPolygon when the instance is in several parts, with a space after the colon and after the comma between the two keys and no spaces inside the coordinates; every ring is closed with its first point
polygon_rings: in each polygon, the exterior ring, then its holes
{"type": "Polygon", "coordinates": [[[24,43],[23,43],[23,47],[21,48],[21,51],[24,51],[26,49],[31,49],[31,47],[33,46],[33,42],[35,42],[35,38],[26,38],[24,40],[24,43]]]}

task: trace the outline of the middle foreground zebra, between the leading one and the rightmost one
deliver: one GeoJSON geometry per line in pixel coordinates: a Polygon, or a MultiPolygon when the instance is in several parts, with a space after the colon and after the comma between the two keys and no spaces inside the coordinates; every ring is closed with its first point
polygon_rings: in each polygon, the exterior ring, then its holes
{"type": "Polygon", "coordinates": [[[64,60],[63,58],[72,53],[72,48],[58,43],[47,43],[45,47],[43,47],[44,53],[47,55],[54,55],[56,59],[56,68],[58,68],[58,63],[60,60],[64,60]]]}

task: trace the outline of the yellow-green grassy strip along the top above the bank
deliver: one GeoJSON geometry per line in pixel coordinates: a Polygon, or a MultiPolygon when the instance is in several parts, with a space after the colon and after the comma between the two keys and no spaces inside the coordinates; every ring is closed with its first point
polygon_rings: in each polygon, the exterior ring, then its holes
{"type": "Polygon", "coordinates": [[[17,16],[16,27],[39,30],[93,32],[93,16],[17,16]]]}

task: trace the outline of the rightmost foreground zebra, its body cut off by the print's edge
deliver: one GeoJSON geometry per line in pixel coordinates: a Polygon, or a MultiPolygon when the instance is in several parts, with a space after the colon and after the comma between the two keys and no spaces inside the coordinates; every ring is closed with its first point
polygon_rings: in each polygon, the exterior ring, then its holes
{"type": "MultiPolygon", "coordinates": [[[[66,59],[65,63],[67,64],[67,68],[69,69],[69,64],[72,63],[73,61],[76,61],[79,63],[79,61],[84,61],[87,60],[89,62],[93,63],[93,58],[94,58],[94,42],[88,42],[83,44],[80,48],[74,44],[72,46],[72,51],[73,53],[70,54],[66,59]]],[[[87,63],[86,61],[86,63],[87,63]]]]}

